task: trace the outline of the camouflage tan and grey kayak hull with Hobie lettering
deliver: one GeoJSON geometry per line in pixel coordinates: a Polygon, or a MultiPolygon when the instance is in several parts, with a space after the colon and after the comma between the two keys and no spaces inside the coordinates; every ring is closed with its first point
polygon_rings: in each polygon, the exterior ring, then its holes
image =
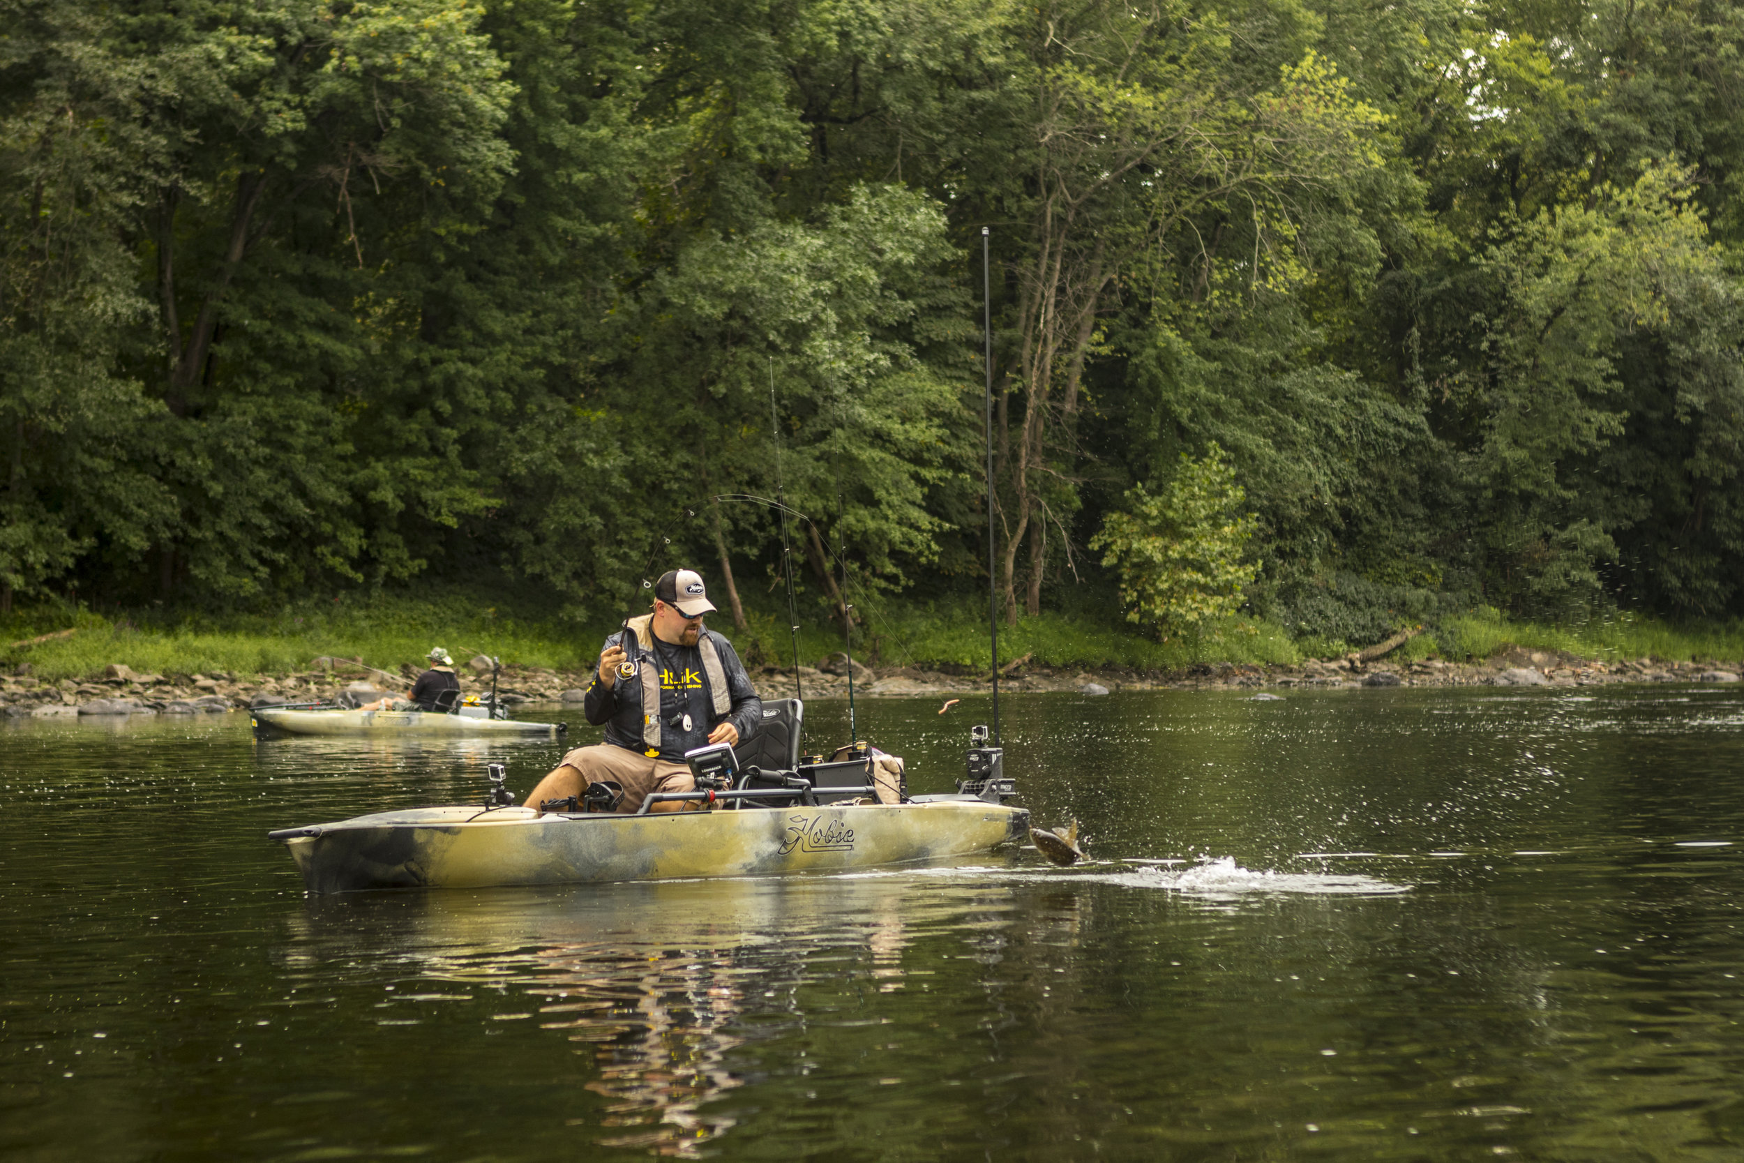
{"type": "Polygon", "coordinates": [[[310,893],[841,872],[984,853],[1029,813],[977,799],[649,816],[424,807],[274,833],[310,893]]]}

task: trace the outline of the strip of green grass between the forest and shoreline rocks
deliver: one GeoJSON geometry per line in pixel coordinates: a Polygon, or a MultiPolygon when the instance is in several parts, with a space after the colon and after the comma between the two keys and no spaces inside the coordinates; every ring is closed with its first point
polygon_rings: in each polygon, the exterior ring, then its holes
{"type": "MultiPolygon", "coordinates": [[[[785,664],[792,657],[787,619],[748,616],[745,629],[724,629],[752,664],[785,664]]],[[[412,600],[380,596],[288,607],[277,614],[164,617],[159,614],[96,614],[66,607],[17,612],[0,621],[0,670],[30,664],[40,678],[87,678],[110,663],[160,675],[232,673],[283,675],[305,671],[321,656],[361,659],[380,670],[417,663],[433,645],[460,661],[474,652],[499,654],[509,666],[584,670],[610,626],[577,626],[556,617],[528,617],[480,603],[467,595],[412,600]],[[65,635],[65,631],[73,631],[65,635]],[[19,640],[63,636],[14,645],[19,640]]],[[[1053,670],[1182,670],[1200,663],[1294,664],[1306,656],[1338,656],[1366,643],[1292,642],[1259,619],[1228,619],[1203,635],[1156,642],[1118,622],[1060,614],[999,626],[999,657],[1024,656],[1053,670]]],[[[1479,612],[1449,619],[1411,640],[1393,659],[1484,659],[1509,647],[1563,652],[1589,659],[1657,657],[1744,659],[1744,626],[1674,628],[1652,619],[1617,616],[1582,626],[1538,626],[1479,612]]],[[[842,649],[827,624],[800,629],[800,659],[814,664],[842,649]]],[[[855,656],[875,666],[912,666],[964,673],[985,670],[987,622],[978,609],[896,607],[869,616],[856,635],[855,656]]]]}

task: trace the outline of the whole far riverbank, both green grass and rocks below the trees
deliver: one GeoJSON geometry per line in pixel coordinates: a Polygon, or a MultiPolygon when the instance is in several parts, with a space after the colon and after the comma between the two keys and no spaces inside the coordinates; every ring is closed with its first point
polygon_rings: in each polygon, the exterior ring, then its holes
{"type": "MultiPolygon", "coordinates": [[[[719,616],[717,616],[717,621],[719,616]]],[[[180,617],[38,610],[0,626],[0,713],[77,713],[122,699],[136,710],[232,710],[256,703],[352,701],[405,690],[431,645],[450,649],[467,692],[488,689],[485,650],[502,659],[509,703],[576,701],[609,628],[487,607],[476,595],[324,600],[276,614],[180,617]],[[476,659],[476,661],[474,661],[476,659]]],[[[759,687],[794,692],[785,624],[752,610],[727,629],[759,687]]],[[[1744,673],[1744,626],[1674,628],[1617,616],[1582,626],[1516,622],[1495,612],[1409,628],[1385,643],[1292,640],[1233,617],[1191,640],[1158,642],[1123,624],[1062,614],[1001,626],[1006,690],[1231,687],[1285,692],[1339,685],[1585,685],[1744,673]]],[[[828,628],[800,629],[799,689],[848,694],[846,657],[828,628]]],[[[989,689],[978,612],[898,609],[867,619],[855,649],[856,696],[963,696],[989,689]]],[[[101,708],[87,710],[99,713],[101,708]]]]}

